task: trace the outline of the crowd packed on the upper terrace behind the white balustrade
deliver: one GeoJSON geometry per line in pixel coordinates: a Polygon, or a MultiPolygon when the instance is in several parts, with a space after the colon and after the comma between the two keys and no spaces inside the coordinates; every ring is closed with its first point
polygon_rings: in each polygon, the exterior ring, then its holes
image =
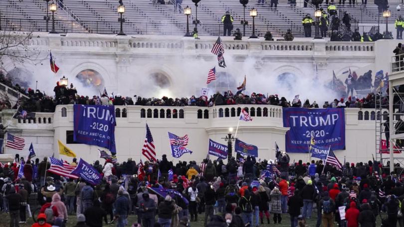
{"type": "MultiPolygon", "coordinates": [[[[310,102],[305,100],[301,102],[288,101],[285,97],[279,97],[277,94],[265,95],[260,93],[251,93],[250,95],[237,92],[233,94],[231,91],[224,93],[217,92],[210,96],[191,96],[190,98],[142,98],[134,96],[122,97],[120,94],[108,95],[106,92],[99,96],[80,96],[73,84],[70,86],[60,85],[57,83],[54,88],[55,96],[48,96],[39,90],[21,88],[18,84],[13,84],[10,78],[0,74],[0,82],[28,96],[20,97],[19,101],[11,107],[7,96],[1,99],[2,109],[17,109],[20,106],[27,112],[49,112],[53,113],[57,105],[81,104],[81,105],[115,105],[115,106],[165,106],[165,107],[184,107],[199,106],[211,107],[221,105],[275,105],[283,108],[287,107],[303,107],[303,108],[375,108],[375,100],[380,93],[386,91],[386,86],[382,86],[384,81],[388,80],[387,75],[383,71],[376,73],[376,79],[372,83],[372,71],[368,71],[364,75],[357,76],[356,72],[349,74],[345,82],[334,77],[334,79],[326,85],[331,91],[337,93],[338,99],[332,102],[325,102],[322,106],[316,101],[310,102]],[[380,89],[382,87],[382,89],[380,89]],[[379,88],[375,95],[375,88],[379,88]],[[356,94],[354,96],[354,91],[356,94]]],[[[316,83],[316,81],[314,82],[316,83]]]]}

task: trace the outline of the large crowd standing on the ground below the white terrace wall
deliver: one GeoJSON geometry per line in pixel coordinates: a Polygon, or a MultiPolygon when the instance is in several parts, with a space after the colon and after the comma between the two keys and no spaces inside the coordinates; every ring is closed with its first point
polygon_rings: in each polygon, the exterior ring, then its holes
{"type": "MultiPolygon", "coordinates": [[[[70,165],[76,166],[76,159],[70,165]]],[[[403,226],[404,178],[377,161],[338,168],[321,160],[290,163],[289,155],[279,152],[275,162],[247,156],[230,157],[227,163],[174,164],[163,155],[144,164],[129,158],[97,160],[92,166],[103,176],[95,186],[46,173],[46,157],[31,162],[16,155],[0,168],[0,207],[9,213],[10,227],[26,222],[32,193],[41,206],[39,214],[32,214],[37,216],[32,227],[64,227],[72,216],[77,227],[187,227],[198,220],[207,227],[258,227],[288,222],[286,214],[291,227],[305,227],[312,218],[316,227],[375,226],[379,217],[385,227],[403,226]],[[25,164],[18,178],[20,163],[25,164]]]]}

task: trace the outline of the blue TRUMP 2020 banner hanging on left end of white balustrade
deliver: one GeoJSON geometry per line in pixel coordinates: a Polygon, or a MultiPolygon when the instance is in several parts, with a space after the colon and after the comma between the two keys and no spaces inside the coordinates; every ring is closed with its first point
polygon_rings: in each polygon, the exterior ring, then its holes
{"type": "Polygon", "coordinates": [[[74,105],[74,141],[116,153],[114,106],[74,105]]]}

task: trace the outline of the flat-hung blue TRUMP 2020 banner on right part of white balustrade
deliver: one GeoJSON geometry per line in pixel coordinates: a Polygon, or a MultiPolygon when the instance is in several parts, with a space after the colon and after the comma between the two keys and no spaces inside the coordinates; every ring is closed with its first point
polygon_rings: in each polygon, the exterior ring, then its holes
{"type": "Polygon", "coordinates": [[[286,132],[286,152],[309,152],[311,137],[317,146],[345,149],[345,114],[343,108],[306,109],[284,108],[283,126],[286,132]]]}

